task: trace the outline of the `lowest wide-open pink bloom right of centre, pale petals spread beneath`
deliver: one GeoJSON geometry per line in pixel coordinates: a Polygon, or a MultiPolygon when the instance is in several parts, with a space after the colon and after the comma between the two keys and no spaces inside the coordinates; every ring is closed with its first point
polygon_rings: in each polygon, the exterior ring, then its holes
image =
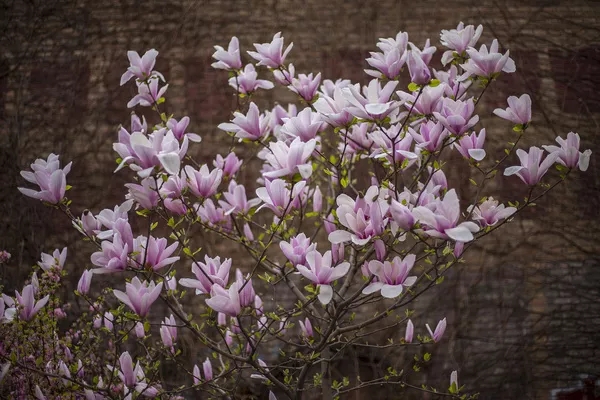
{"type": "Polygon", "coordinates": [[[363,289],[363,294],[381,291],[381,295],[393,299],[402,293],[404,287],[410,287],[417,281],[416,276],[408,276],[415,264],[416,256],[408,254],[404,259],[394,257],[390,261],[369,261],[369,271],[376,276],[376,280],[363,289]]]}

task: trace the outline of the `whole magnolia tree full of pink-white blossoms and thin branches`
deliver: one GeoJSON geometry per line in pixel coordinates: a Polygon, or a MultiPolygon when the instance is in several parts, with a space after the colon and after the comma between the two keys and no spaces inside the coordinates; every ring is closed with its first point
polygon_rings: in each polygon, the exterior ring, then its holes
{"type": "MultiPolygon", "coordinates": [[[[218,127],[229,148],[202,165],[188,155],[201,139],[187,131],[189,118],[161,110],[168,85],[154,70],[158,52],[128,52],[121,85],[133,80],[138,94],[127,106],[149,113],[133,114],[113,145],[115,173],[133,171],[126,200],[76,216],[65,196],[71,163],[61,167],[51,154],[21,173],[34,187],[21,193],[64,212],[89,242],[93,267],[75,292],[89,311],[59,326],[68,311],[59,297],[67,250],[42,254],[23,289],[0,299],[0,392],[236,398],[244,380],[264,386],[270,399],[342,398],[374,385],[473,397],[456,371],[447,371],[444,387],[420,380],[431,352],[444,346],[447,321],[417,318],[423,310],[415,300],[475,241],[571,171],[585,171],[591,153],[580,151],[572,132],[558,137],[558,146],[518,148],[531,122],[527,94],[494,110],[513,132],[504,153],[486,153],[481,96],[516,67],[497,40],[477,48],[481,33],[462,23],[443,30],[439,71],[429,67],[436,51],[429,40],[421,48],[404,32],[380,39],[364,87],[296,74],[286,61],[292,44],[285,47],[279,33],[255,44],[247,52],[254,64],[244,64],[234,37],[227,49],[215,46],[212,64],[228,71],[237,95],[231,121],[218,127]],[[258,79],[257,68],[272,80],[258,79]],[[405,70],[411,83],[399,87],[405,70]],[[253,100],[275,85],[297,94],[297,104],[261,110],[253,100]],[[508,166],[513,152],[520,165],[508,166]],[[255,191],[237,180],[249,160],[241,154],[262,161],[255,191]],[[470,198],[447,181],[449,161],[473,170],[465,178],[470,198]],[[553,166],[558,171],[549,173],[553,166]],[[503,204],[486,195],[499,171],[523,182],[524,199],[503,204]],[[239,251],[232,258],[207,253],[194,240],[199,231],[239,251]],[[252,260],[245,271],[242,257],[245,265],[252,260]],[[91,290],[100,274],[110,274],[103,279],[110,287],[91,290]],[[374,342],[384,330],[391,336],[374,342]],[[182,351],[183,337],[200,359],[182,351]],[[394,357],[380,376],[333,379],[332,363],[353,346],[386,348],[394,357]],[[161,363],[175,368],[177,384],[161,375],[161,363]]],[[[2,254],[2,262],[8,258],[2,254]]]]}

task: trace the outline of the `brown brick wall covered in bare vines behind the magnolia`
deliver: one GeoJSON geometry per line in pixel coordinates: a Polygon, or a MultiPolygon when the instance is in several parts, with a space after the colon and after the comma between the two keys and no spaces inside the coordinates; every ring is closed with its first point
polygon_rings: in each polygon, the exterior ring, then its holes
{"type": "MultiPolygon", "coordinates": [[[[21,284],[40,251],[68,245],[77,272],[89,264],[91,251],[57,212],[18,195],[21,169],[50,152],[72,160],[69,196],[79,212],[84,206],[97,212],[125,194],[126,174],[113,175],[106,166],[114,160],[117,127],[129,119],[132,87],[118,86],[127,50],[160,51],[157,69],[170,83],[166,111],[190,116],[191,131],[203,136],[194,151],[205,162],[222,145],[216,125],[235,105],[226,73],[210,67],[213,45],[225,46],[236,35],[242,50],[251,50],[252,43],[282,31],[294,42],[290,60],[297,71],[366,83],[363,60],[379,37],[402,30],[416,44],[431,38],[439,45],[439,30],[459,21],[483,24],[481,43],[497,37],[511,49],[518,72],[496,83],[485,106],[491,115],[508,95],[530,93],[535,120],[523,147],[549,144],[573,130],[584,148],[600,154],[600,5],[592,1],[2,0],[0,248],[13,254],[0,266],[5,291],[21,284]]],[[[274,97],[265,93],[263,99],[274,97]]],[[[482,119],[501,149],[494,136],[506,137],[506,124],[482,119]]],[[[586,174],[574,174],[510,229],[482,240],[470,262],[430,293],[423,305],[429,323],[447,316],[450,339],[436,354],[444,362],[425,371],[428,381],[446,384],[449,371],[459,369],[461,382],[482,399],[545,399],[580,374],[600,375],[595,158],[586,174]]],[[[447,171],[465,182],[466,173],[447,171]]],[[[465,196],[468,184],[459,189],[465,196]]],[[[513,200],[526,194],[516,178],[498,178],[494,191],[513,200]]],[[[220,243],[210,246],[218,250],[220,243]]],[[[375,353],[349,352],[344,361],[376,371],[390,360],[375,353]]],[[[387,398],[398,393],[393,390],[387,398]]]]}

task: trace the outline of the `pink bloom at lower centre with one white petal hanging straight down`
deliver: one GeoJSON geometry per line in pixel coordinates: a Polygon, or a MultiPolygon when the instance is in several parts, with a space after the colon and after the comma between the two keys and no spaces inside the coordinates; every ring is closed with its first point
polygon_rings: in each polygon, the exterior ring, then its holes
{"type": "Polygon", "coordinates": [[[308,266],[298,264],[296,269],[302,276],[317,285],[319,301],[322,304],[329,304],[333,298],[333,288],[330,283],[346,275],[350,269],[350,263],[342,262],[332,267],[330,250],[323,255],[316,250],[309,252],[306,255],[306,263],[308,266]]]}

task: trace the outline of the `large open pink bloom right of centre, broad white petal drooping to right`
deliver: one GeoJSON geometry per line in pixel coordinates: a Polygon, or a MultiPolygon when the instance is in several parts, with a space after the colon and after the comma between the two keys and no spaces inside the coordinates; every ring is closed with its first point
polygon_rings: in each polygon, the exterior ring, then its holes
{"type": "Polygon", "coordinates": [[[473,233],[479,231],[474,222],[458,224],[460,205],[454,189],[449,190],[443,200],[437,199],[428,207],[415,207],[412,212],[425,228],[424,232],[432,237],[470,242],[473,233]]]}

